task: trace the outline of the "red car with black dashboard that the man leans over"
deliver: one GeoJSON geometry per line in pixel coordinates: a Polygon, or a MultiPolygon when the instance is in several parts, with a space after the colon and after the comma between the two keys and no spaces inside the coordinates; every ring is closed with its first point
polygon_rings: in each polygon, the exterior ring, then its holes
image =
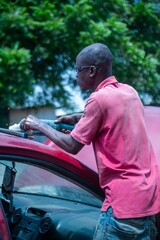
{"type": "MultiPolygon", "coordinates": [[[[145,119],[160,163],[160,108],[145,119]]],[[[73,156],[15,135],[0,133],[0,240],[91,240],[104,199],[92,144],[73,156]]]]}

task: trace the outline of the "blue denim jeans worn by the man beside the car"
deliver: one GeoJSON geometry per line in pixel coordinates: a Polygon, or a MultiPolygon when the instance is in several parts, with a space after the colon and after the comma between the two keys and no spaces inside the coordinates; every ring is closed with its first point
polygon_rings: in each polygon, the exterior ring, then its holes
{"type": "Polygon", "coordinates": [[[156,240],[155,216],[117,219],[110,207],[102,212],[93,240],[156,240]]]}

